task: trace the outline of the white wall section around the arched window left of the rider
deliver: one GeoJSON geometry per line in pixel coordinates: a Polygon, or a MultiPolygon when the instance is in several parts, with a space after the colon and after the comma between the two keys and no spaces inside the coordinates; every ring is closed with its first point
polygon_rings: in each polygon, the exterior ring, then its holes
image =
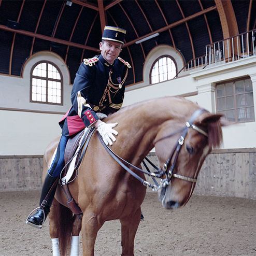
{"type": "Polygon", "coordinates": [[[70,107],[69,71],[59,55],[40,52],[31,56],[23,76],[0,75],[0,155],[42,155],[46,146],[61,135],[59,120],[70,107]],[[55,63],[63,75],[64,104],[30,102],[30,71],[41,60],[55,63]]]}

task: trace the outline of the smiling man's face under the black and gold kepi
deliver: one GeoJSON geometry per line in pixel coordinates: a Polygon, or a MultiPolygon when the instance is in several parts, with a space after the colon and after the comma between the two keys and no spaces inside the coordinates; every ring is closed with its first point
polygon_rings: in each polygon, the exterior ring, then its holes
{"type": "Polygon", "coordinates": [[[120,42],[104,40],[104,42],[99,43],[99,50],[102,51],[103,58],[109,63],[117,59],[120,52],[122,51],[122,44],[120,42]]]}

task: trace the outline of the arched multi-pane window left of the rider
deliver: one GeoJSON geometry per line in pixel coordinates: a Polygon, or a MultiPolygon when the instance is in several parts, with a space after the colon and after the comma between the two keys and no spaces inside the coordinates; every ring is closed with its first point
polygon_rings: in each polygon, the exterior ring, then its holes
{"type": "Polygon", "coordinates": [[[32,67],[30,101],[63,105],[63,78],[53,63],[41,61],[32,67]]]}

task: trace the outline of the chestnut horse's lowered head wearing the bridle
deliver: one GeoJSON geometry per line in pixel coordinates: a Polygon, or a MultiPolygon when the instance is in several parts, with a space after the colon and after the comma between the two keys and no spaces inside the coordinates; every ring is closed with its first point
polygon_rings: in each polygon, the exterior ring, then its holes
{"type": "Polygon", "coordinates": [[[197,113],[187,123],[178,119],[165,122],[155,138],[155,152],[166,173],[159,197],[167,209],[189,201],[207,154],[222,141],[221,115],[197,113]]]}

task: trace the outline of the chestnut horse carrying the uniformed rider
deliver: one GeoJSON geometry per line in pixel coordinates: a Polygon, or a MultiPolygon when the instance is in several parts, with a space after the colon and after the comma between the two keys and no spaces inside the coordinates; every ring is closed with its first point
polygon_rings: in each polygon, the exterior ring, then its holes
{"type": "MultiPolygon", "coordinates": [[[[188,202],[206,155],[222,140],[221,115],[206,110],[195,115],[198,109],[200,106],[184,98],[162,97],[124,107],[104,119],[109,123],[118,122],[115,128],[117,141],[111,149],[127,162],[140,166],[155,147],[160,167],[166,172],[159,194],[163,207],[167,209],[188,202]],[[184,130],[186,133],[182,137],[184,130]],[[169,170],[171,165],[172,170],[169,170]]],[[[57,145],[58,139],[46,149],[43,177],[57,145]]],[[[138,170],[135,173],[145,179],[143,173],[138,170]]],[[[98,230],[105,221],[115,219],[121,222],[121,255],[134,255],[134,238],[146,187],[112,159],[96,132],[91,137],[77,178],[69,184],[69,191],[83,216],[81,221],[73,216],[59,186],[49,219],[50,236],[60,239],[61,255],[66,249],[70,250],[71,235],[78,236],[80,230],[83,255],[94,255],[98,230]]]]}

